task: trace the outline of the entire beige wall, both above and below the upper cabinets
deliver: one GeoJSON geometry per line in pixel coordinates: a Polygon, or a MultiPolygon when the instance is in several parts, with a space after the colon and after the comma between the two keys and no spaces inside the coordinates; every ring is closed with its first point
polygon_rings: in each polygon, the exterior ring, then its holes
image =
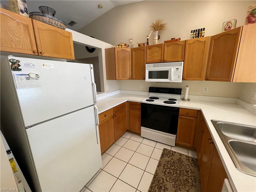
{"type": "MultiPolygon", "coordinates": [[[[96,39],[116,45],[119,42],[128,43],[133,38],[136,42],[145,42],[150,33],[150,23],[158,18],[163,18],[167,29],[160,31],[158,43],[169,40],[172,37],[189,39],[190,30],[206,28],[206,36],[221,33],[224,21],[236,18],[237,27],[244,24],[248,6],[255,1],[141,1],[114,7],[102,16],[98,17],[78,32],[93,36],[96,39]]],[[[153,35],[150,37],[153,42],[153,35]]],[[[189,94],[239,97],[251,104],[251,90],[255,83],[231,83],[210,81],[183,81],[182,83],[148,83],[143,80],[106,81],[109,90],[137,90],[148,91],[149,86],[179,87],[185,89],[190,86],[189,94]],[[120,86],[119,86],[120,83],[120,86]],[[140,89],[143,84],[143,89],[140,89]],[[203,92],[204,87],[209,88],[203,92]]],[[[105,86],[106,86],[105,85],[105,86]]],[[[255,89],[254,89],[255,90],[255,89]]]]}

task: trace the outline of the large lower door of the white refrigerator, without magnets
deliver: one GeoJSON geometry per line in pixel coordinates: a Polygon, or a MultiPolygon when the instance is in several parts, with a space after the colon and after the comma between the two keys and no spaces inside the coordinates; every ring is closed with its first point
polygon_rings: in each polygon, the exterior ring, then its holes
{"type": "Polygon", "coordinates": [[[41,191],[80,191],[101,168],[93,106],[26,129],[41,191]]]}

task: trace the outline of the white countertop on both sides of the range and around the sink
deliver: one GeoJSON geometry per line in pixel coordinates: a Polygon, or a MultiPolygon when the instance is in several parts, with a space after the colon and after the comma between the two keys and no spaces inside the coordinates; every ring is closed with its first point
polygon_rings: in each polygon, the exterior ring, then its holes
{"type": "MultiPolygon", "coordinates": [[[[99,113],[111,109],[125,101],[141,102],[147,95],[119,93],[98,100],[97,107],[99,113]]],[[[211,120],[227,121],[232,123],[241,123],[254,125],[256,117],[252,113],[243,109],[236,103],[213,102],[213,101],[180,101],[180,108],[201,110],[206,120],[207,126],[214,140],[215,146],[220,155],[221,161],[227,172],[229,182],[234,191],[256,191],[256,177],[240,172],[233,164],[225,146],[223,145],[217,131],[211,120]]]]}

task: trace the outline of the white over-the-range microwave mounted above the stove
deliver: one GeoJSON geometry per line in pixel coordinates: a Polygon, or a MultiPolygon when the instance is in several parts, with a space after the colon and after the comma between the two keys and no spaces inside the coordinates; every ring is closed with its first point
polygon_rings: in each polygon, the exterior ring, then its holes
{"type": "Polygon", "coordinates": [[[148,82],[182,82],[182,62],[146,64],[148,82]]]}

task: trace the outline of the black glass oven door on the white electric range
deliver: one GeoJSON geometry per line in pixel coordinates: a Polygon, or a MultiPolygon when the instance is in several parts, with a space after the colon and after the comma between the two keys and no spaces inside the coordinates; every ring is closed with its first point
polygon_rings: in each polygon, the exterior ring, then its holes
{"type": "Polygon", "coordinates": [[[179,108],[141,103],[141,126],[176,135],[179,108]]]}

